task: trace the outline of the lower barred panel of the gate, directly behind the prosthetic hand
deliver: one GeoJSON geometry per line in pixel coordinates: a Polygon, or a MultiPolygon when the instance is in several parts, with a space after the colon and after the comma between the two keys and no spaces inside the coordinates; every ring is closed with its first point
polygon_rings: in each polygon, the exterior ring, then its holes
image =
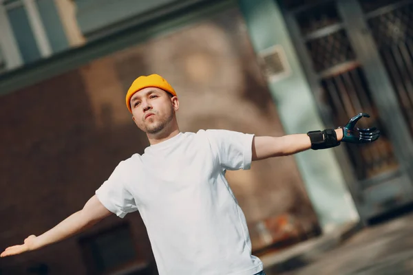
{"type": "Polygon", "coordinates": [[[381,129],[382,135],[372,144],[346,144],[346,150],[354,166],[358,179],[368,179],[384,172],[396,170],[399,164],[387,138],[377,109],[371,97],[363,70],[355,67],[341,74],[332,75],[321,80],[325,98],[332,107],[335,123],[346,124],[350,115],[361,111],[370,113],[369,120],[360,120],[358,126],[367,128],[374,125],[381,129]]]}

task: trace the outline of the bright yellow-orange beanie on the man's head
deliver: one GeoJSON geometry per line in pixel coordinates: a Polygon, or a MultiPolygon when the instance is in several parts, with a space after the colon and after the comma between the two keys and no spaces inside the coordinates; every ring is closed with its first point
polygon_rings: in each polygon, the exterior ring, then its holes
{"type": "Polygon", "coordinates": [[[126,94],[126,106],[129,112],[132,112],[131,109],[131,97],[141,89],[145,89],[147,87],[156,87],[167,91],[172,96],[176,96],[175,90],[172,88],[167,80],[159,76],[158,74],[151,74],[150,76],[139,76],[135,79],[134,83],[132,83],[131,87],[127,91],[126,94]]]}

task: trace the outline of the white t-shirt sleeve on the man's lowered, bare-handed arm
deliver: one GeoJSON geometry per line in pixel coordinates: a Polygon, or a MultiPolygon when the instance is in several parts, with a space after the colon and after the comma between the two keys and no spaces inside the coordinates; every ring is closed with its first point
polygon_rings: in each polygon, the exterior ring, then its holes
{"type": "Polygon", "coordinates": [[[124,162],[116,166],[112,175],[96,190],[100,203],[118,217],[123,218],[127,213],[138,210],[134,196],[127,190],[125,181],[124,162]]]}

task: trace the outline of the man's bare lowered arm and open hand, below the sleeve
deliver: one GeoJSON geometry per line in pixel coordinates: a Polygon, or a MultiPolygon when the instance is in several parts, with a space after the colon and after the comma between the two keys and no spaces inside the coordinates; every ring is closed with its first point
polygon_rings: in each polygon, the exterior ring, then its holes
{"type": "Polygon", "coordinates": [[[94,195],[91,199],[89,199],[89,201],[87,201],[82,210],[70,215],[70,217],[67,217],[54,228],[41,234],[40,236],[28,236],[22,245],[14,245],[6,248],[0,256],[5,257],[14,254],[21,254],[23,252],[43,248],[51,243],[62,241],[63,239],[67,239],[74,234],[90,228],[92,225],[98,223],[98,221],[104,219],[105,217],[108,217],[110,214],[112,214],[112,212],[107,210],[105,206],[100,203],[96,195],[94,195]]]}

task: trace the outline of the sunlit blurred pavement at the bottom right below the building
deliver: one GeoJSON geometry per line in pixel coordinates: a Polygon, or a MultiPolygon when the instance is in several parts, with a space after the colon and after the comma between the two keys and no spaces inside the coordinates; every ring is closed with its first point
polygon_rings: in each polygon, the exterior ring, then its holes
{"type": "Polygon", "coordinates": [[[346,225],[260,259],[267,275],[413,274],[413,212],[366,228],[346,225]]]}

